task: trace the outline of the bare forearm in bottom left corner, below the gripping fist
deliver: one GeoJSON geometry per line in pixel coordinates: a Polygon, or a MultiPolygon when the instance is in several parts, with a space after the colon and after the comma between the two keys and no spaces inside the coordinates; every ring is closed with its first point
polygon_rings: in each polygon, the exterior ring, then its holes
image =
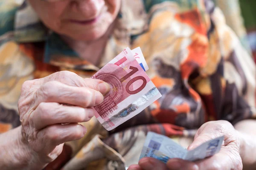
{"type": "Polygon", "coordinates": [[[0,134],[0,169],[42,169],[46,164],[35,159],[26,140],[21,135],[21,126],[0,134]]]}

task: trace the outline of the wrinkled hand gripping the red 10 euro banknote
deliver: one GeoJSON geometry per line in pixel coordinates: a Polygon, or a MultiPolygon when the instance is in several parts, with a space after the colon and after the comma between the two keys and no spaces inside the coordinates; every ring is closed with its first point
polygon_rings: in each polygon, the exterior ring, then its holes
{"type": "Polygon", "coordinates": [[[93,117],[91,107],[109,89],[101,80],[69,71],[25,82],[18,103],[21,135],[35,159],[46,165],[61,154],[64,142],[82,138],[86,128],[78,123],[93,117]]]}

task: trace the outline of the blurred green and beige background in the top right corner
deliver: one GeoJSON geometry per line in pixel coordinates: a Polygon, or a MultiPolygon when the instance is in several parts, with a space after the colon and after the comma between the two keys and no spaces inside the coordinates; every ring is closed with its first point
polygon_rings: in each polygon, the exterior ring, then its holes
{"type": "Polygon", "coordinates": [[[256,62],[256,0],[214,0],[256,62]]]}

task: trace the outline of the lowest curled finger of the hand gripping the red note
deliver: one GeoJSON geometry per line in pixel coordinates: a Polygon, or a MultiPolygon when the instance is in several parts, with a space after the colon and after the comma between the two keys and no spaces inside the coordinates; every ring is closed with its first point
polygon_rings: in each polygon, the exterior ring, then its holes
{"type": "Polygon", "coordinates": [[[50,153],[57,145],[81,139],[87,132],[80,124],[52,125],[40,130],[37,134],[38,141],[41,141],[41,150],[50,153]]]}

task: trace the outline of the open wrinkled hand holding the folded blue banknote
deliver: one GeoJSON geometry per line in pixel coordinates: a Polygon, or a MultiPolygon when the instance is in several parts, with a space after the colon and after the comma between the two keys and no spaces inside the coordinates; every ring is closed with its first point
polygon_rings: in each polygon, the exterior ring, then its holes
{"type": "Polygon", "coordinates": [[[220,136],[224,136],[221,150],[209,158],[195,162],[170,159],[167,164],[157,159],[143,158],[138,165],[131,165],[128,170],[242,170],[243,164],[239,154],[241,137],[233,125],[227,121],[211,121],[202,125],[188,150],[220,136]]]}

